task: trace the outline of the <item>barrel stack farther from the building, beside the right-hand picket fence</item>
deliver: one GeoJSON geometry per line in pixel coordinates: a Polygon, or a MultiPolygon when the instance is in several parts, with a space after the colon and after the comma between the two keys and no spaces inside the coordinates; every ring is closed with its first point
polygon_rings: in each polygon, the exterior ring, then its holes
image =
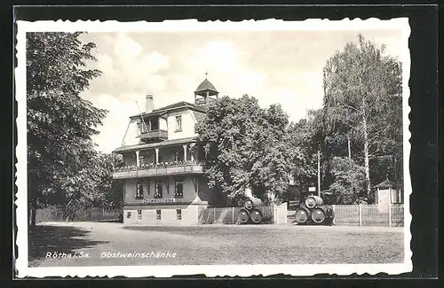
{"type": "Polygon", "coordinates": [[[324,205],[319,196],[310,195],[300,204],[295,213],[295,222],[305,225],[333,225],[335,215],[329,205],[324,205]]]}

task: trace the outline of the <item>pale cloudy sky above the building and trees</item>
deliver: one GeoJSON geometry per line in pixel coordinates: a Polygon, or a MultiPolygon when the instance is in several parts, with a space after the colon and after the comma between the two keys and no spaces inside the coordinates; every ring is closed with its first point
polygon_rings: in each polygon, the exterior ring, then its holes
{"type": "MultiPolygon", "coordinates": [[[[90,68],[102,74],[82,97],[108,111],[99,136],[100,152],[122,145],[131,115],[143,112],[147,94],[155,108],[178,101],[194,103],[194,90],[205,79],[219,96],[257,97],[266,107],[280,103],[289,121],[321,108],[322,68],[361,31],[189,31],[88,33],[84,43],[97,47],[90,68]],[[136,104],[136,102],[138,104],[136,104]],[[139,105],[139,107],[138,107],[139,105]]],[[[400,58],[400,31],[361,32],[385,55],[400,58]]]]}

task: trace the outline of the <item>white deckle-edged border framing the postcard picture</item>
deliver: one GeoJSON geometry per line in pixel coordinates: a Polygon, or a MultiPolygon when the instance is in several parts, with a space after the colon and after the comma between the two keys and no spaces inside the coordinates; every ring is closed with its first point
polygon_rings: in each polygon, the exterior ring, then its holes
{"type": "Polygon", "coordinates": [[[18,66],[16,76],[16,99],[18,102],[17,132],[17,242],[20,257],[16,261],[19,277],[33,276],[156,276],[170,277],[173,275],[206,276],[269,276],[284,274],[291,276],[313,276],[315,274],[329,273],[346,276],[356,273],[375,275],[385,272],[396,275],[412,270],[412,253],[410,251],[410,222],[409,196],[412,192],[409,174],[410,131],[408,129],[408,97],[410,95],[408,80],[410,74],[410,53],[408,50],[408,37],[410,27],[407,18],[380,20],[380,19],[307,19],[305,21],[283,21],[276,19],[198,22],[196,19],[167,20],[163,22],[126,22],[118,21],[18,21],[17,58],[18,66]],[[28,193],[27,193],[27,111],[26,111],[26,32],[179,32],[179,31],[208,31],[208,30],[400,30],[402,31],[402,111],[403,111],[403,152],[404,152],[404,259],[401,264],[322,264],[322,265],[187,265],[187,266],[113,266],[113,267],[39,267],[28,268],[28,193]],[[169,269],[166,269],[169,268],[169,269]]]}

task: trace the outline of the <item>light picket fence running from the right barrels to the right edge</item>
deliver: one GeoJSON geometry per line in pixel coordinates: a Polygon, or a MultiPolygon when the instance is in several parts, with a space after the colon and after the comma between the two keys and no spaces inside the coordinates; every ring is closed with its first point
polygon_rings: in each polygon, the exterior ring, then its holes
{"type": "Polygon", "coordinates": [[[336,225],[404,226],[404,205],[333,205],[336,225]]]}

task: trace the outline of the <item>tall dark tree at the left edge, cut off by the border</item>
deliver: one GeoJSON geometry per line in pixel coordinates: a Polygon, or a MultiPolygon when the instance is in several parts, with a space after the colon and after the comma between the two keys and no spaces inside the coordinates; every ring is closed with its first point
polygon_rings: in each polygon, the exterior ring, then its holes
{"type": "Polygon", "coordinates": [[[100,72],[86,68],[87,61],[95,60],[91,55],[95,44],[81,43],[79,35],[27,34],[31,226],[36,224],[36,208],[44,193],[52,195],[54,191],[64,191],[69,182],[81,181],[84,175],[77,173],[93,154],[91,136],[99,133],[96,128],[107,113],[80,97],[100,72]]]}

